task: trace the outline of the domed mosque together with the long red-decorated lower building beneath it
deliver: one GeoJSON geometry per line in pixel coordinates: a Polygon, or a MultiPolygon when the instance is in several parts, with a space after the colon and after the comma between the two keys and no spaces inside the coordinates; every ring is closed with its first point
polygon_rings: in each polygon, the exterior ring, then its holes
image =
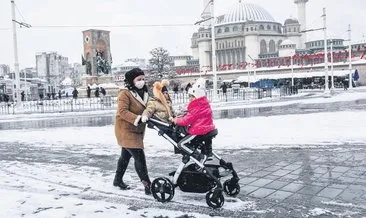
{"type": "MultiPolygon", "coordinates": [[[[238,0],[223,15],[214,14],[218,83],[246,81],[250,86],[265,79],[286,79],[285,84],[289,84],[289,78],[290,81],[299,78],[295,85],[304,83],[300,78],[324,83],[324,39],[307,39],[309,0],[293,2],[297,5],[297,18],[288,18],[283,23],[263,7],[244,0],[238,0]]],[[[211,5],[211,0],[203,0],[200,28],[191,37],[192,58],[185,64],[175,65],[182,82],[200,76],[212,80],[211,5]]],[[[340,82],[358,71],[359,84],[366,84],[366,42],[351,44],[352,64],[349,64],[348,46],[344,41],[341,38],[327,40],[328,48],[333,48],[334,76],[340,82]]],[[[331,60],[329,51],[328,62],[331,60]]]]}

